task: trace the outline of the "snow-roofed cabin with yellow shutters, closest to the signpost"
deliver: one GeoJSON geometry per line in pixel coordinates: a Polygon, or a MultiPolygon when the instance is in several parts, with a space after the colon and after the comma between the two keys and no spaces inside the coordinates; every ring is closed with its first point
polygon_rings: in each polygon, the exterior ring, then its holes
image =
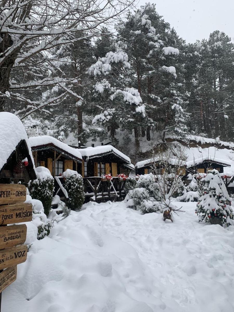
{"type": "Polygon", "coordinates": [[[82,156],[78,149],[49,135],[31,137],[29,143],[36,167],[48,168],[53,177],[61,175],[66,169],[81,174],[82,156]]]}

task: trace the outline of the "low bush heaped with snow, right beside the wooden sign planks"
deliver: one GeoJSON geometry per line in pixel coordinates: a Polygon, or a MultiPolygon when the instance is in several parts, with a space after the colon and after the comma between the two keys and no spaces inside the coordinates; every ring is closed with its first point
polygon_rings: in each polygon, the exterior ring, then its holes
{"type": "Polygon", "coordinates": [[[51,227],[54,225],[53,220],[47,219],[42,202],[38,199],[32,199],[29,195],[27,195],[26,202],[32,204],[32,223],[37,227],[37,239],[48,236],[51,227]]]}

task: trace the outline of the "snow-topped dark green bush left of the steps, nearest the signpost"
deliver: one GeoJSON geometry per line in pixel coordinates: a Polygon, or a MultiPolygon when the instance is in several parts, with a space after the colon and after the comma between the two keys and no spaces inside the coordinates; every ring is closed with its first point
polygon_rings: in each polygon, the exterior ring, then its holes
{"type": "Polygon", "coordinates": [[[33,199],[42,202],[44,212],[48,216],[54,192],[54,179],[50,170],[42,166],[36,168],[36,174],[37,179],[30,181],[28,190],[33,199]]]}

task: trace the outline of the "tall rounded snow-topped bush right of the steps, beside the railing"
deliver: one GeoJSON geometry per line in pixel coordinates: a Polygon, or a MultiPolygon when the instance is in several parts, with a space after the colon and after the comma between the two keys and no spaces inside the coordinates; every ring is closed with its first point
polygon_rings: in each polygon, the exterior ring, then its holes
{"type": "Polygon", "coordinates": [[[65,178],[64,188],[67,191],[67,207],[72,210],[80,210],[85,201],[84,183],[82,176],[76,171],[67,169],[63,173],[65,178]]]}

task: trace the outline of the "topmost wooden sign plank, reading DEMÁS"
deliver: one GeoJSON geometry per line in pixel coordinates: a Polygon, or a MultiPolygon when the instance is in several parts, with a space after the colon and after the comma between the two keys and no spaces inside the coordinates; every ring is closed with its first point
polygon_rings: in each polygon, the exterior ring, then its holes
{"type": "Polygon", "coordinates": [[[26,201],[26,186],[22,184],[0,184],[0,205],[26,201]]]}

